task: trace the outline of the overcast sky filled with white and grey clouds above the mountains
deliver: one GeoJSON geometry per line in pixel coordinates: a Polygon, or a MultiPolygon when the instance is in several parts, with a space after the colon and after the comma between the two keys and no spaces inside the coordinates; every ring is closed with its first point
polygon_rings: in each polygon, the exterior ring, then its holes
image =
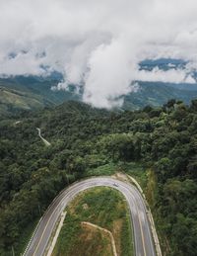
{"type": "Polygon", "coordinates": [[[195,83],[196,0],[0,0],[0,76],[63,74],[57,89],[84,86],[84,101],[121,105],[136,81],[195,83]],[[140,70],[177,58],[185,69],[140,70]]]}

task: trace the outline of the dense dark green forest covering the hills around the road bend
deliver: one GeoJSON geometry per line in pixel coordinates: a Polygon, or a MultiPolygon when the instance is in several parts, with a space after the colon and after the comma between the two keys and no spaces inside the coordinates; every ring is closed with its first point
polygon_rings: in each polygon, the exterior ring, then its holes
{"type": "MultiPolygon", "coordinates": [[[[153,170],[154,213],[164,255],[197,251],[197,100],[107,111],[66,102],[0,121],[0,255],[20,254],[20,237],[70,183],[108,163],[153,170]],[[37,135],[51,143],[45,146],[37,135]]],[[[94,171],[93,171],[94,174],[94,171]]]]}

